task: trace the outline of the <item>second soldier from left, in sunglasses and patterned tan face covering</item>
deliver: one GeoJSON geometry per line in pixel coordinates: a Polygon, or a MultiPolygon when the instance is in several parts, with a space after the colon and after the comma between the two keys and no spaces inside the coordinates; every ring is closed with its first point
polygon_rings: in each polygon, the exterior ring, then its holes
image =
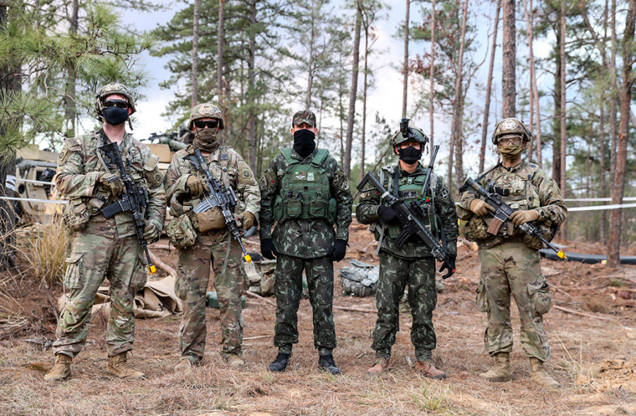
{"type": "Polygon", "coordinates": [[[218,132],[225,120],[216,105],[195,105],[190,113],[188,129],[194,141],[177,151],[168,168],[168,200],[175,218],[167,226],[167,234],[179,250],[175,291],[183,299],[184,314],[179,329],[181,360],[175,370],[182,371],[199,364],[206,347],[206,290],[210,266],[214,270],[220,309],[223,349],[221,357],[231,367],[244,366],[241,345],[243,317],[241,296],[245,293],[242,251],[232,238],[218,207],[195,214],[193,209],[205,191],[206,176],[185,156],[201,150],[213,178],[225,189],[233,189],[239,202],[235,207],[238,224],[249,229],[257,220],[261,193],[254,174],[243,158],[229,146],[220,146],[218,132]]]}

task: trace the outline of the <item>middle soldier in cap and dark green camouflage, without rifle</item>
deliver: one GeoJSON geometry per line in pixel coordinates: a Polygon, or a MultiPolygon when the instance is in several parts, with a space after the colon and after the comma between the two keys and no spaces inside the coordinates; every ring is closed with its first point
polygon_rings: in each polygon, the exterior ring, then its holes
{"type": "Polygon", "coordinates": [[[334,261],[346,254],[351,224],[348,178],[326,149],[316,149],[316,116],[296,112],[291,133],[292,148],[273,158],[259,182],[261,188],[261,253],[276,256],[276,360],[270,371],[284,371],[298,342],[298,306],[302,270],[307,275],[313,311],[314,347],[318,366],[340,374],[332,354],[336,347],[334,261]],[[271,231],[274,221],[278,224],[271,231]],[[334,223],[336,230],[334,231],[334,223]]]}

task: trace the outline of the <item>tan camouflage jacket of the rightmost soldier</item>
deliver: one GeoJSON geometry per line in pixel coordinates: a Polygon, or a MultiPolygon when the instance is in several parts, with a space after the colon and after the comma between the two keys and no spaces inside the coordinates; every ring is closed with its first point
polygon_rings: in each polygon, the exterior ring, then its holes
{"type": "MultiPolygon", "coordinates": [[[[480,174],[480,176],[483,173],[480,174]]],[[[481,186],[488,188],[492,185],[497,193],[502,195],[502,200],[512,207],[512,209],[536,209],[538,211],[538,225],[546,231],[546,238],[551,239],[550,228],[565,221],[567,216],[567,206],[561,191],[555,181],[534,163],[522,161],[512,168],[505,168],[498,164],[489,171],[485,171],[485,176],[479,180],[481,186]],[[549,231],[549,232],[548,232],[549,231]],[[550,234],[548,236],[548,234],[550,234]]],[[[471,212],[471,202],[476,198],[470,192],[464,192],[457,203],[457,215],[459,219],[468,221],[464,233],[466,238],[478,241],[480,245],[492,247],[502,241],[519,236],[518,229],[515,229],[510,221],[506,221],[501,227],[497,236],[493,236],[486,230],[492,221],[492,216],[478,217],[471,212]]],[[[526,245],[541,244],[534,242],[526,245]]]]}

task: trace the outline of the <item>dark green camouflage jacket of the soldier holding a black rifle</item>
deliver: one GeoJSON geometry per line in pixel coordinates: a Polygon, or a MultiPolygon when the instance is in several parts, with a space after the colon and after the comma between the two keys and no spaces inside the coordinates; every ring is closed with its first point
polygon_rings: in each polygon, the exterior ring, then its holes
{"type": "MultiPolygon", "coordinates": [[[[382,177],[380,178],[383,182],[384,188],[389,190],[389,180],[394,180],[394,166],[384,166],[382,168],[384,172],[382,177]]],[[[425,226],[428,226],[433,234],[437,235],[437,237],[441,238],[441,226],[443,226],[444,235],[447,243],[447,250],[449,253],[457,255],[457,237],[459,236],[459,229],[457,226],[457,213],[455,212],[455,202],[453,201],[453,197],[449,192],[442,178],[435,175],[435,173],[431,173],[430,186],[427,190],[425,190],[425,195],[421,194],[421,188],[425,182],[427,168],[418,164],[413,173],[408,173],[403,169],[399,169],[398,181],[400,183],[399,188],[401,189],[406,186],[406,184],[414,184],[418,183],[418,195],[417,199],[422,200],[429,197],[429,200],[432,201],[430,206],[430,216],[435,217],[435,221],[433,224],[430,224],[429,219],[420,219],[422,220],[425,226]],[[435,195],[433,196],[433,192],[435,195]]],[[[391,188],[392,191],[392,188],[391,188]]],[[[405,197],[406,199],[406,197],[405,197]]],[[[408,199],[416,199],[414,197],[408,199]]],[[[428,248],[419,238],[413,237],[409,239],[402,247],[396,247],[393,243],[393,239],[396,237],[396,233],[399,232],[399,226],[383,226],[379,224],[379,214],[377,210],[379,205],[381,204],[380,195],[375,191],[375,188],[370,188],[367,190],[363,190],[360,194],[360,202],[358,203],[358,207],[355,209],[355,216],[358,219],[360,224],[371,224],[372,231],[375,232],[375,238],[379,240],[381,233],[382,243],[380,243],[379,249],[387,251],[392,255],[395,255],[399,258],[421,258],[421,257],[432,257],[430,254],[430,248],[428,248]]]]}

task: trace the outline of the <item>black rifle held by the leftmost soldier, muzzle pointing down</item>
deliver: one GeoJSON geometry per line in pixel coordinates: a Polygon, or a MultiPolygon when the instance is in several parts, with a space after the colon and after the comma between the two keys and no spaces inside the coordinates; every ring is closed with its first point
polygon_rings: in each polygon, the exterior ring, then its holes
{"type": "Polygon", "coordinates": [[[102,214],[104,214],[106,218],[110,218],[120,212],[130,212],[135,226],[137,240],[139,240],[143,251],[146,252],[148,272],[154,275],[155,272],[157,272],[157,267],[153,265],[150,253],[148,253],[148,242],[146,238],[143,238],[143,229],[146,228],[146,219],[143,218],[143,213],[141,212],[141,208],[146,207],[146,204],[148,204],[148,190],[144,187],[138,187],[131,176],[126,173],[124,161],[122,161],[122,154],[119,153],[117,143],[112,142],[105,144],[104,146],[100,146],[99,150],[104,152],[104,154],[110,158],[110,161],[117,166],[119,176],[122,177],[122,181],[126,187],[126,192],[119,197],[119,200],[102,209],[102,214]]]}

